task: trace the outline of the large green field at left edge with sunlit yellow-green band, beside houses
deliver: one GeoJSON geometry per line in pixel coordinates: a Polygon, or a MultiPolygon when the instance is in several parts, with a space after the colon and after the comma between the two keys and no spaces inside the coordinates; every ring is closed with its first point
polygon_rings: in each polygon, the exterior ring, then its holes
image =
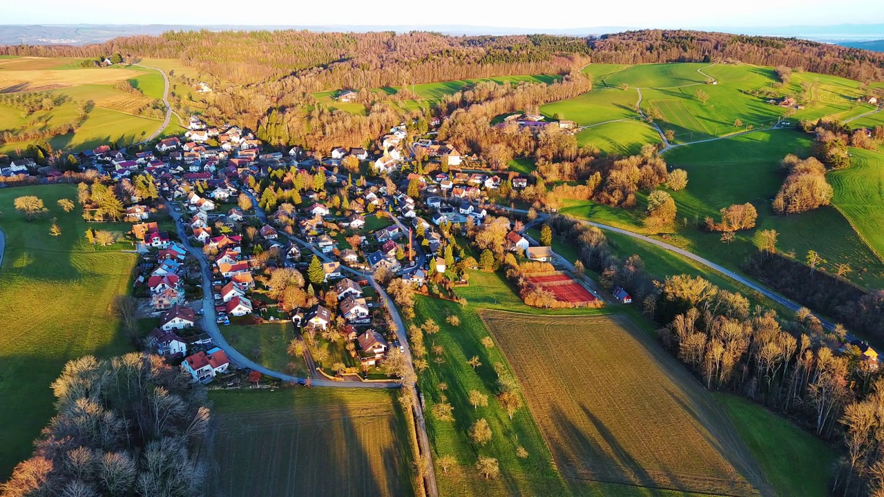
{"type": "Polygon", "coordinates": [[[65,362],[132,347],[119,333],[111,306],[127,293],[136,257],[118,251],[128,247],[124,244],[104,251],[86,246],[80,210],[65,213],[57,205],[59,198],[76,197],[73,185],[0,190],[0,229],[6,236],[0,270],[0,479],[31,454],[32,440],[55,413],[50,383],[65,362]],[[26,221],[12,206],[19,195],[42,198],[50,211],[26,221]],[[57,218],[61,236],[50,236],[51,218],[57,218]]]}

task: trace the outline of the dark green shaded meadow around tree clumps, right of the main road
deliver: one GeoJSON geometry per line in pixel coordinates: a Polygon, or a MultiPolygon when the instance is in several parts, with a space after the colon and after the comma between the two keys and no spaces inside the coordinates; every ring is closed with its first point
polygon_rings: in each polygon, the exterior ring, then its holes
{"type": "MultiPolygon", "coordinates": [[[[706,216],[717,218],[718,210],[732,203],[749,202],[758,210],[757,229],[774,229],[780,233],[777,248],[781,252],[804,260],[808,250],[816,250],[828,261],[824,267],[850,264],[856,271],[848,277],[857,285],[880,287],[884,284],[884,263],[854,231],[842,212],[828,206],[793,216],[773,213],[770,202],[783,180],[777,172],[781,158],[789,153],[807,157],[810,143],[805,134],[774,130],[697,143],[667,153],[667,164],[685,169],[689,177],[688,187],[673,193],[678,218],[687,218],[689,223],[679,229],[670,242],[737,269],[743,259],[756,250],[751,241],[755,231],[738,233],[734,242],[725,245],[717,234],[697,229],[695,221],[702,221],[706,216]],[[858,271],[860,268],[865,271],[858,271]]],[[[833,178],[850,174],[848,169],[836,172],[833,178]]],[[[850,195],[841,195],[842,201],[850,198],[850,195]]],[[[866,235],[869,236],[873,235],[866,235]]]]}

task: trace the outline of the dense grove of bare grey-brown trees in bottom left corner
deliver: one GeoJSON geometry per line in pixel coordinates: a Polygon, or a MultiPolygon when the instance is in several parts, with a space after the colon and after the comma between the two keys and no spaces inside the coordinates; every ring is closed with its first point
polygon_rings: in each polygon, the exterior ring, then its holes
{"type": "Polygon", "coordinates": [[[210,410],[205,389],[160,356],[65,365],[57,415],[0,495],[205,494],[210,410]]]}

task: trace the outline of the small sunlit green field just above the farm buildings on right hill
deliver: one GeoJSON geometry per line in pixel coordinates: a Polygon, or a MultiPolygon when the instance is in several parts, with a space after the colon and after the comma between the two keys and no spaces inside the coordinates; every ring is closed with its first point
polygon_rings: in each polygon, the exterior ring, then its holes
{"type": "Polygon", "coordinates": [[[547,103],[540,107],[540,112],[547,118],[568,119],[579,126],[588,126],[615,119],[636,119],[636,101],[634,91],[623,91],[619,88],[596,89],[575,96],[568,100],[547,103]]]}

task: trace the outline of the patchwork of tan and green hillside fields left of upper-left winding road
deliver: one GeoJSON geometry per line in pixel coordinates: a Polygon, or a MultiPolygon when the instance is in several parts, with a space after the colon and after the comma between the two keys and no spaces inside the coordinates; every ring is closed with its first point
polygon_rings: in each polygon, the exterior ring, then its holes
{"type": "MultiPolygon", "coordinates": [[[[74,134],[48,139],[54,149],[91,149],[105,143],[125,146],[153,134],[162,118],[137,115],[163,96],[163,77],[154,70],[137,66],[106,68],[80,67],[82,59],[12,57],[0,60],[0,92],[44,91],[64,97],[65,102],[48,111],[26,114],[0,104],[0,122],[4,129],[31,131],[54,126],[78,124],[74,134]],[[127,80],[143,95],[113,88],[127,80]],[[85,118],[80,108],[92,101],[94,109],[85,118]]],[[[157,115],[160,113],[157,112],[157,115]]],[[[178,131],[173,127],[169,131],[178,131]]],[[[24,150],[30,141],[0,144],[0,153],[24,150]]]]}

